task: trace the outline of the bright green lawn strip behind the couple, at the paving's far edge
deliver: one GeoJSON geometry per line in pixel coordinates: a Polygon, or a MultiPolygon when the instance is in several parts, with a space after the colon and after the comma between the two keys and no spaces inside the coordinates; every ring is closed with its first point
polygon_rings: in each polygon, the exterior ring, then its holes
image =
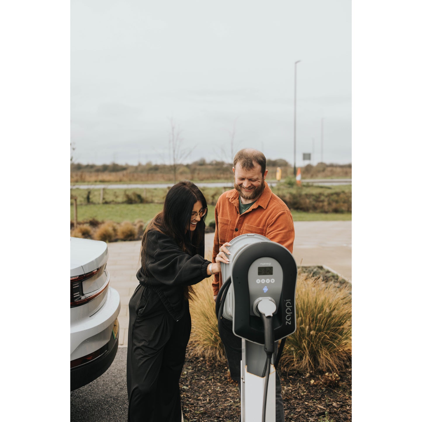
{"type": "MultiPolygon", "coordinates": [[[[214,221],[214,206],[208,206],[207,223],[214,221]]],[[[141,219],[149,221],[162,210],[162,204],[89,204],[78,205],[78,221],[97,219],[98,221],[112,220],[116,223],[123,221],[135,222],[141,219]]],[[[293,221],[345,221],[352,219],[352,213],[307,213],[292,211],[293,221]]],[[[70,219],[73,220],[73,206],[70,206],[70,219]]]]}

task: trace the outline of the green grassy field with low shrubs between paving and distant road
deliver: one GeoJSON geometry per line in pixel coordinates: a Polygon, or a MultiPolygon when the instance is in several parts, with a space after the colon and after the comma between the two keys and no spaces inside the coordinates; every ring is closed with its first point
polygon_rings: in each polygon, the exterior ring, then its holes
{"type": "MultiPolygon", "coordinates": [[[[272,188],[289,206],[294,221],[327,221],[351,220],[351,185],[339,186],[303,186],[287,187],[278,184],[272,188]],[[339,205],[340,203],[340,205],[339,205]],[[315,208],[310,210],[309,208],[315,208]],[[330,212],[330,209],[336,212],[330,212]]],[[[96,219],[111,220],[116,223],[123,221],[135,222],[141,219],[149,221],[162,209],[168,189],[70,189],[70,220],[74,221],[74,200],[77,201],[78,222],[96,219]]],[[[202,189],[208,204],[207,224],[214,221],[214,205],[218,197],[225,191],[222,188],[202,189]]]]}

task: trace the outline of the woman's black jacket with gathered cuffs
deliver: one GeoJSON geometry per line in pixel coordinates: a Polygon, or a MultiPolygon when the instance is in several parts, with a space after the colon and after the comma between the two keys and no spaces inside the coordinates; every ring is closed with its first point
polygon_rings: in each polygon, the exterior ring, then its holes
{"type": "Polygon", "coordinates": [[[151,230],[147,235],[145,262],[136,273],[139,283],[160,296],[169,314],[177,321],[185,311],[184,287],[206,277],[211,261],[204,259],[204,246],[193,256],[183,252],[167,235],[151,230]],[[201,256],[202,255],[202,256],[201,256]]]}

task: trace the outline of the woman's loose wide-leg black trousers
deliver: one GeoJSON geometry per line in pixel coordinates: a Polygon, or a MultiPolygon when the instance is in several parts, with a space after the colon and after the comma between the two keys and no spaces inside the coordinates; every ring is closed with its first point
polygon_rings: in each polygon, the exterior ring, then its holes
{"type": "Polygon", "coordinates": [[[138,286],[129,301],[127,343],[128,422],[180,422],[179,378],[191,319],[175,321],[158,295],[138,286]]]}

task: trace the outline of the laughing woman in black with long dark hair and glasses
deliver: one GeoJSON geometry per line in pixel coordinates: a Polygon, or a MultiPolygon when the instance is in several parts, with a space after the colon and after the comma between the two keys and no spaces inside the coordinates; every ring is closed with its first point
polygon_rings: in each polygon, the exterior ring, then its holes
{"type": "Polygon", "coordinates": [[[143,234],[139,285],[129,301],[128,422],[181,421],[179,378],[191,330],[191,286],[229,262],[203,257],[206,215],[202,192],[180,181],[143,234]]]}

